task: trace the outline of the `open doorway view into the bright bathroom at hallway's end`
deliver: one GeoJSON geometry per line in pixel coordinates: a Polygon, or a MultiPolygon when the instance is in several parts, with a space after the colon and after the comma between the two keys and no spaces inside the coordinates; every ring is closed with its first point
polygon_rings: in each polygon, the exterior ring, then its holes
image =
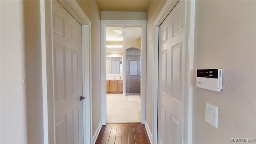
{"type": "Polygon", "coordinates": [[[141,122],[142,26],[106,26],[106,123],[141,122]]]}

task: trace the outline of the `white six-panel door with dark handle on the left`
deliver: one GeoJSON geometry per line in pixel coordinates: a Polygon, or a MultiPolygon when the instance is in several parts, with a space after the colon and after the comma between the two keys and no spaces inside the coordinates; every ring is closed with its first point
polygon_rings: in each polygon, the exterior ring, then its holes
{"type": "Polygon", "coordinates": [[[52,7],[55,141],[82,144],[82,27],[56,0],[52,7]]]}

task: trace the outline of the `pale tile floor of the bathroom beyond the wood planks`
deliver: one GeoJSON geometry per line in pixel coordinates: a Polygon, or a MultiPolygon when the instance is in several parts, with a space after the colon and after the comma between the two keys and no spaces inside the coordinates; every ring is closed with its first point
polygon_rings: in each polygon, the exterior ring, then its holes
{"type": "Polygon", "coordinates": [[[141,101],[130,102],[128,95],[107,94],[107,123],[141,122],[141,101]]]}

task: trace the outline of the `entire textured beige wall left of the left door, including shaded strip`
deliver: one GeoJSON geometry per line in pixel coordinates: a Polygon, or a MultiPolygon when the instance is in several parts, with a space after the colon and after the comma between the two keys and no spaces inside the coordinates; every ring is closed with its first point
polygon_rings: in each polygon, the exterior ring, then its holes
{"type": "Polygon", "coordinates": [[[1,141],[43,143],[40,2],[1,1],[1,141]]]}

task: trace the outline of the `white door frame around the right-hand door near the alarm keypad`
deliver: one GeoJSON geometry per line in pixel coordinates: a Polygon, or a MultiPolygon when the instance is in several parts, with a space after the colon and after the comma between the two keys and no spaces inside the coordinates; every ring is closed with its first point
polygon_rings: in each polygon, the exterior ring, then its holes
{"type": "MultiPolygon", "coordinates": [[[[179,0],[167,0],[162,10],[156,17],[153,24],[153,128],[152,143],[157,143],[158,124],[158,49],[159,49],[159,26],[172,11],[179,0]]],[[[193,104],[193,62],[194,62],[194,22],[195,22],[195,1],[185,2],[185,82],[184,82],[184,107],[183,107],[183,134],[182,143],[192,143],[192,104],[193,104]]]]}

